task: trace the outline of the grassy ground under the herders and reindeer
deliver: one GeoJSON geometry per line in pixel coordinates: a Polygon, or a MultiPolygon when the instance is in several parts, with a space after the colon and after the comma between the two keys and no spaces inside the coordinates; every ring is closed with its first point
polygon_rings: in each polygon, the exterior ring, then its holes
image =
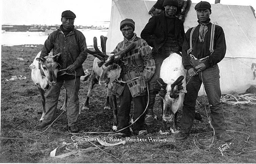
{"type": "MultiPolygon", "coordinates": [[[[62,114],[60,118],[45,132],[38,134],[42,130],[35,130],[34,126],[39,123],[41,117],[40,95],[36,86],[30,77],[29,65],[33,62],[35,55],[41,50],[42,45],[31,46],[2,46],[1,56],[1,140],[0,140],[0,162],[21,162],[21,163],[256,163],[256,154],[240,153],[244,151],[255,150],[256,142],[256,120],[255,105],[239,105],[233,106],[224,104],[224,116],[227,130],[237,132],[228,132],[235,139],[233,144],[227,149],[223,156],[218,147],[225,144],[214,138],[213,145],[207,151],[199,146],[203,151],[199,150],[194,144],[194,136],[203,132],[211,131],[204,104],[207,106],[206,97],[200,96],[197,106],[203,116],[203,121],[194,121],[191,135],[183,141],[174,141],[173,134],[160,135],[158,132],[161,127],[161,109],[159,97],[156,99],[154,111],[158,116],[158,120],[153,126],[146,127],[148,134],[146,136],[133,135],[131,138],[162,139],[166,141],[127,141],[125,145],[114,146],[113,149],[105,150],[107,153],[114,155],[116,158],[102,151],[81,151],[76,155],[71,155],[61,159],[50,157],[50,152],[54,150],[62,142],[72,142],[72,135],[67,134],[67,118],[66,114],[62,114]],[[24,61],[17,58],[23,58],[24,61]],[[5,81],[12,75],[24,75],[27,79],[5,81]],[[247,141],[248,136],[250,139],[247,141]],[[10,138],[26,138],[26,139],[3,139],[10,138]],[[30,139],[28,139],[29,137],[30,139]],[[238,154],[239,155],[232,155],[238,154]]],[[[94,57],[88,55],[83,64],[84,69],[91,68],[94,57]]],[[[89,82],[82,82],[79,98],[80,107],[82,108],[88,91],[89,82]]],[[[64,98],[64,89],[62,89],[58,109],[61,108],[64,98]]],[[[106,89],[95,85],[90,99],[90,109],[83,111],[80,115],[79,127],[81,130],[107,132],[111,131],[113,124],[113,114],[111,110],[103,110],[106,98],[106,89]]],[[[208,109],[208,106],[207,106],[208,109]]],[[[209,112],[209,109],[208,109],[209,112]]],[[[57,111],[57,115],[61,113],[57,111]]],[[[178,111],[179,124],[181,111],[178,111]]],[[[90,137],[107,137],[107,134],[79,134],[78,136],[90,137]]],[[[120,137],[117,137],[120,138],[120,137]]],[[[200,144],[210,145],[212,133],[197,137],[200,144]]],[[[125,138],[122,138],[125,140],[125,138]]],[[[110,141],[109,141],[110,142],[110,141]]],[[[93,142],[97,144],[97,142],[93,142]]],[[[93,146],[89,142],[78,144],[79,149],[86,149],[93,146]]],[[[75,147],[69,147],[75,149],[75,147]]],[[[56,155],[64,154],[69,151],[64,147],[57,151],[56,155]]]]}

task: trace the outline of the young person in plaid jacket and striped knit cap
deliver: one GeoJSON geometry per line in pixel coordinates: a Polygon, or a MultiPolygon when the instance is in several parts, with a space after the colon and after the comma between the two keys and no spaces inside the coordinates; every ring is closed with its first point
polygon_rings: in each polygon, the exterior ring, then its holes
{"type": "MultiPolygon", "coordinates": [[[[127,46],[136,43],[133,50],[125,54],[122,58],[120,78],[127,83],[113,82],[112,94],[119,96],[120,108],[118,110],[118,126],[117,130],[129,126],[131,101],[134,102],[134,116],[136,120],[146,108],[146,91],[147,82],[153,76],[155,71],[155,63],[151,56],[151,50],[147,42],[137,37],[135,30],[135,22],[132,19],[122,20],[120,30],[124,36],[123,41],[117,44],[114,53],[124,50],[127,46]],[[140,77],[140,78],[137,78],[140,77]]],[[[143,128],[144,115],[142,115],[135,123],[133,132],[135,134],[147,134],[143,128]]],[[[130,130],[126,128],[118,133],[120,136],[129,136],[130,130]]]]}

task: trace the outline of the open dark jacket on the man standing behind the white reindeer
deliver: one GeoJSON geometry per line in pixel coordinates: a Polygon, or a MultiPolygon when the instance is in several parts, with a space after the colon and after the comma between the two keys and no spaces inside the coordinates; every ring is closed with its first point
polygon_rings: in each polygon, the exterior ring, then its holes
{"type": "MultiPolygon", "coordinates": [[[[183,22],[177,17],[175,18],[175,37],[179,44],[179,51],[182,51],[184,40],[183,22]]],[[[152,16],[140,34],[141,38],[146,40],[149,46],[159,51],[159,48],[164,45],[167,40],[167,22],[165,11],[159,15],[152,16]]]]}

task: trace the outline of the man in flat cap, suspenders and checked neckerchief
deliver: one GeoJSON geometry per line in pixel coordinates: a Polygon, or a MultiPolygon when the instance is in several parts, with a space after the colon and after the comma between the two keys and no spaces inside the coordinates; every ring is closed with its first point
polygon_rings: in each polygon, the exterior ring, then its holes
{"type": "Polygon", "coordinates": [[[233,137],[226,132],[223,106],[220,102],[220,70],[217,64],[226,53],[224,31],[220,26],[210,22],[211,5],[208,2],[199,2],[196,4],[195,10],[198,26],[190,28],[186,32],[182,47],[182,63],[187,69],[186,89],[188,93],[184,97],[180,133],[175,136],[175,139],[182,140],[190,134],[195,117],[198,91],[203,83],[210,106],[211,124],[217,139],[228,142],[233,137]],[[191,38],[192,45],[190,45],[191,38]]]}

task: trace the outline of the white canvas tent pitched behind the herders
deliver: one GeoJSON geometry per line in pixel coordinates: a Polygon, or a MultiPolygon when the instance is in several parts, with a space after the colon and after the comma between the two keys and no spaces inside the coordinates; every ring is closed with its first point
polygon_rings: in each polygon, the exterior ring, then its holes
{"type": "MultiPolygon", "coordinates": [[[[114,50],[123,40],[120,22],[125,18],[135,21],[135,32],[140,37],[150,15],[148,11],[156,1],[112,0],[110,27],[107,34],[107,52],[114,50]]],[[[184,22],[185,32],[197,26],[195,3],[192,3],[184,22]]],[[[225,33],[227,51],[225,58],[218,64],[222,94],[244,93],[256,78],[251,70],[256,63],[256,19],[250,6],[211,4],[211,22],[221,26],[225,33]]],[[[201,87],[199,95],[203,94],[201,87]]]]}

